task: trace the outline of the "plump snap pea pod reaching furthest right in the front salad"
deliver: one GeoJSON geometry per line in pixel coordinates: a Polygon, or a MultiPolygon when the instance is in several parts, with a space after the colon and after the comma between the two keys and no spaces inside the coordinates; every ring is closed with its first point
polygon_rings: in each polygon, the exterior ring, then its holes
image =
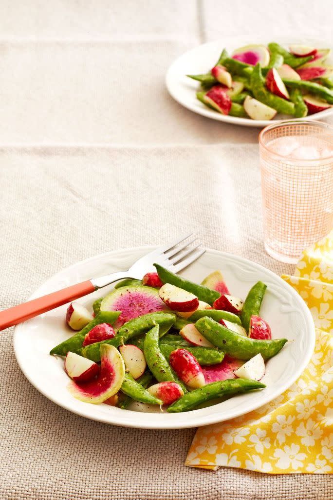
{"type": "Polygon", "coordinates": [[[264,359],[275,356],[287,342],[287,338],[257,340],[229,330],[210,317],[202,317],[195,323],[200,333],[213,345],[238,359],[251,359],[261,354],[264,359]]]}

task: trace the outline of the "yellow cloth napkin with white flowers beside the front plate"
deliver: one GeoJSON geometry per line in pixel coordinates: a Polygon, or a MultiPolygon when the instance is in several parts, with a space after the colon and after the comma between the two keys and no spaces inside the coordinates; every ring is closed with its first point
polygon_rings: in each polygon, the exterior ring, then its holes
{"type": "Polygon", "coordinates": [[[295,276],[282,276],[308,304],[314,354],[282,395],[238,418],[201,427],[185,464],[271,474],[333,473],[333,231],[307,249],[295,276]]]}

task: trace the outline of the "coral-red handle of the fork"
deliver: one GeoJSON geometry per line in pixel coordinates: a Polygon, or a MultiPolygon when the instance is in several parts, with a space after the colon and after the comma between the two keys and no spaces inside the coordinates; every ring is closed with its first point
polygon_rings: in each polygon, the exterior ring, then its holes
{"type": "Polygon", "coordinates": [[[54,291],[48,295],[34,298],[28,302],[15,305],[15,307],[10,307],[10,309],[0,311],[0,330],[26,321],[31,317],[38,316],[42,312],[55,309],[59,305],[75,300],[75,298],[83,297],[83,295],[87,295],[94,290],[95,287],[90,280],[82,281],[82,283],[73,284],[62,290],[54,291]]]}

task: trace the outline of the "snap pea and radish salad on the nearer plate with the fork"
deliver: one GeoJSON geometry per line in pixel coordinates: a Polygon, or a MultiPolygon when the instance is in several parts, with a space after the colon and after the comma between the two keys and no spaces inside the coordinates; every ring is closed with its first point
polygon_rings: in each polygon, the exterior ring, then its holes
{"type": "Polygon", "coordinates": [[[76,332],[50,354],[64,357],[72,396],[176,413],[266,387],[265,361],[287,342],[272,338],[260,316],[267,285],[258,281],[243,302],[220,271],[197,284],[155,267],[142,280],[119,282],[92,313],[68,306],[76,332]]]}

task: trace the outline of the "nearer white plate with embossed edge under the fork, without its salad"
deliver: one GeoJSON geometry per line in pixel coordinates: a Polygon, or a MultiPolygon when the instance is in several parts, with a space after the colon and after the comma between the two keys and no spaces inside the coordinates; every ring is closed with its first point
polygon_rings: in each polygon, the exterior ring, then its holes
{"type": "MultiPolygon", "coordinates": [[[[30,298],[50,293],[92,276],[128,269],[131,263],[150,247],[130,248],[97,255],[60,271],[48,279],[30,298]]],[[[28,380],[51,401],[73,413],[93,420],[140,428],[196,427],[228,420],[268,403],[285,391],[302,373],[315,345],[315,327],[309,309],[300,295],[283,279],[259,264],[217,250],[207,250],[182,274],[201,280],[215,269],[221,269],[230,290],[245,297],[259,279],[268,284],[262,315],[272,327],[273,337],[285,336],[288,342],[282,351],[267,362],[261,391],[242,394],[222,403],[186,413],[142,413],[122,410],[106,404],[91,404],[73,398],[67,391],[68,377],[63,360],[48,354],[49,350],[71,334],[65,325],[66,306],[25,321],[14,330],[17,362],[28,380]]],[[[84,305],[104,295],[111,286],[98,290],[79,301],[84,305]]]]}

